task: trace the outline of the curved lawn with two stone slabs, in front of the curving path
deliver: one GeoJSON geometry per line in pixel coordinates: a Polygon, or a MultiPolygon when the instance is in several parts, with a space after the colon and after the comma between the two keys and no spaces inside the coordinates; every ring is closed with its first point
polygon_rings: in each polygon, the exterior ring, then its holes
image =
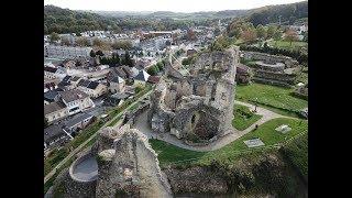
{"type": "MultiPolygon", "coordinates": [[[[308,122],[306,120],[279,118],[271,120],[260,125],[257,130],[251,131],[242,138],[223,146],[222,148],[211,152],[189,151],[160,140],[150,140],[150,143],[158,154],[157,158],[162,167],[170,163],[208,165],[212,160],[223,163],[231,162],[238,156],[241,156],[239,151],[248,150],[248,146],[243,142],[245,140],[260,138],[265,145],[273,145],[283,142],[286,139],[293,138],[304,131],[308,131],[308,122]],[[275,129],[282,124],[288,124],[292,128],[292,131],[286,134],[275,131],[275,129]]],[[[250,151],[261,152],[261,150],[250,151]]]]}

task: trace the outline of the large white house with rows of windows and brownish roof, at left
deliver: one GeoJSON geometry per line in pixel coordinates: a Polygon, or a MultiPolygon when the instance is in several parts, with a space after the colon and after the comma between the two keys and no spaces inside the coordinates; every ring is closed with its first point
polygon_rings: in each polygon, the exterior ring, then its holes
{"type": "MultiPolygon", "coordinates": [[[[90,97],[81,90],[72,89],[61,92],[62,100],[66,105],[68,114],[75,114],[85,109],[95,107],[90,97]]],[[[45,106],[46,107],[46,106],[45,106]]]]}

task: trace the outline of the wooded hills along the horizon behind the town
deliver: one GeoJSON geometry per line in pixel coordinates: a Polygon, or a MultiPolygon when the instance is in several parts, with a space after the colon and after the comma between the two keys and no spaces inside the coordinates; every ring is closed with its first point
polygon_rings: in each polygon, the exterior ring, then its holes
{"type": "Polygon", "coordinates": [[[125,12],[125,11],[74,11],[54,6],[44,6],[44,34],[69,33],[88,30],[147,29],[170,30],[193,25],[213,24],[218,19],[231,21],[244,18],[254,25],[278,22],[292,23],[308,18],[308,1],[292,4],[270,6],[251,10],[223,10],[213,12],[125,12]]]}

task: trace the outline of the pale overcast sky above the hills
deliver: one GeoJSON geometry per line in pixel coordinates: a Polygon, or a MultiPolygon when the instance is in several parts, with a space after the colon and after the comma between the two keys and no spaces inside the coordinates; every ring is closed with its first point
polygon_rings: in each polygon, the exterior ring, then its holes
{"type": "Polygon", "coordinates": [[[197,12],[243,10],[299,1],[302,0],[44,0],[44,6],[70,10],[197,12]]]}

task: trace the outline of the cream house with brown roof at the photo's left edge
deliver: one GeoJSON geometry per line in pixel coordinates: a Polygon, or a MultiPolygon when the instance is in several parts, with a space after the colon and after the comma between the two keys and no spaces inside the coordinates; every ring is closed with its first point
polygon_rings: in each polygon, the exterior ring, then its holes
{"type": "Polygon", "coordinates": [[[44,117],[50,123],[67,116],[69,116],[69,112],[66,108],[66,105],[62,101],[55,101],[44,106],[44,117]]]}

